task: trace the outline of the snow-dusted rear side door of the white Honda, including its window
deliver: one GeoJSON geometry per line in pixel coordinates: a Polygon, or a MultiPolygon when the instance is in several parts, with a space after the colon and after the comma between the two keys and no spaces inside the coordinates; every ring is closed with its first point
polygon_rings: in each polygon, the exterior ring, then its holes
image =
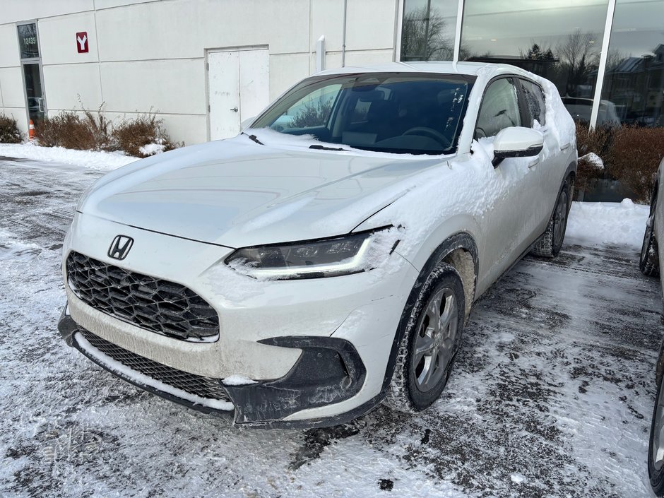
{"type": "Polygon", "coordinates": [[[550,130],[550,124],[546,119],[546,102],[544,92],[538,83],[526,78],[519,78],[523,97],[523,105],[526,107],[528,123],[523,126],[530,126],[541,131],[544,136],[544,149],[550,153],[540,153],[537,158],[529,163],[530,171],[537,179],[538,198],[540,202],[535,203],[533,209],[533,233],[530,234],[531,242],[542,235],[545,230],[555,201],[558,197],[561,175],[567,170],[567,165],[561,165],[559,162],[564,160],[559,152],[560,146],[557,139],[550,130]]]}

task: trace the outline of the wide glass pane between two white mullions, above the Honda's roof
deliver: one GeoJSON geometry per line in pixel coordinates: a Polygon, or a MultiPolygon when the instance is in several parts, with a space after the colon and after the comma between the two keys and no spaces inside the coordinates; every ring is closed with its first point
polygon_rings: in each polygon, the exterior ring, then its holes
{"type": "Polygon", "coordinates": [[[466,1],[459,59],[513,64],[592,99],[607,0],[466,1]]]}

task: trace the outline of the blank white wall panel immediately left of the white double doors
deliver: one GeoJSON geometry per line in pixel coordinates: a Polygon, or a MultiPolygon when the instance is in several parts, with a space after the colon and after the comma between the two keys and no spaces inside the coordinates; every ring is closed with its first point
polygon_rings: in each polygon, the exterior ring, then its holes
{"type": "Polygon", "coordinates": [[[102,62],[100,68],[109,111],[206,114],[202,58],[102,62]]]}

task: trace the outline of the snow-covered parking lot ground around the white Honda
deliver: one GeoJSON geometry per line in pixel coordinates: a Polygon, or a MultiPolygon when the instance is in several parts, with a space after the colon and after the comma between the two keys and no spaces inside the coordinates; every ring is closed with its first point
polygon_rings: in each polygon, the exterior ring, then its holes
{"type": "Polygon", "coordinates": [[[662,327],[659,283],[638,268],[645,206],[575,203],[559,257],[526,257],[478,302],[424,413],[251,430],[59,338],[61,241],[101,174],[77,164],[0,160],[1,497],[651,496],[662,327]]]}

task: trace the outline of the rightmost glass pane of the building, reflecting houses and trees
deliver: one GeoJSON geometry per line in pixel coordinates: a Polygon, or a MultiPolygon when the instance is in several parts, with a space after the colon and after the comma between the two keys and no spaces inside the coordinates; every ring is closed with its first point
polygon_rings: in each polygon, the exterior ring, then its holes
{"type": "Polygon", "coordinates": [[[663,23],[663,0],[617,0],[602,102],[623,124],[664,126],[663,23]]]}

